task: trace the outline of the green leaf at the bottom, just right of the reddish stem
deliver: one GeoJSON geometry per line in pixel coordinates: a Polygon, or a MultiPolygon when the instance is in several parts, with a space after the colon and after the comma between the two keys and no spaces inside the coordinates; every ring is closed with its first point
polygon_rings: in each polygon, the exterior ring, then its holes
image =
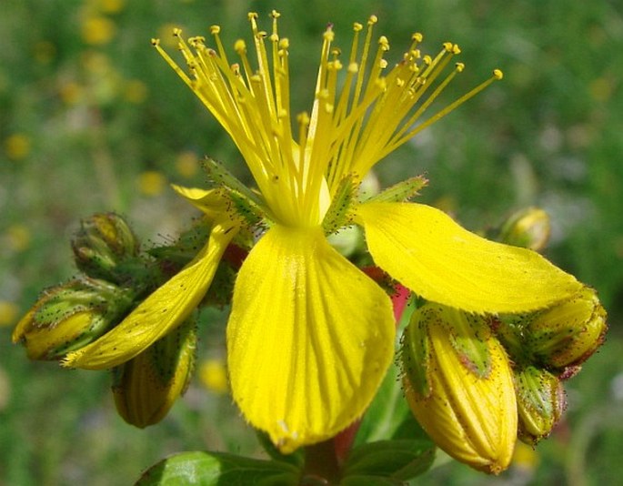
{"type": "Polygon", "coordinates": [[[434,459],[435,444],[430,440],[379,440],[351,452],[344,477],[374,476],[408,481],[427,471],[434,459]]]}

